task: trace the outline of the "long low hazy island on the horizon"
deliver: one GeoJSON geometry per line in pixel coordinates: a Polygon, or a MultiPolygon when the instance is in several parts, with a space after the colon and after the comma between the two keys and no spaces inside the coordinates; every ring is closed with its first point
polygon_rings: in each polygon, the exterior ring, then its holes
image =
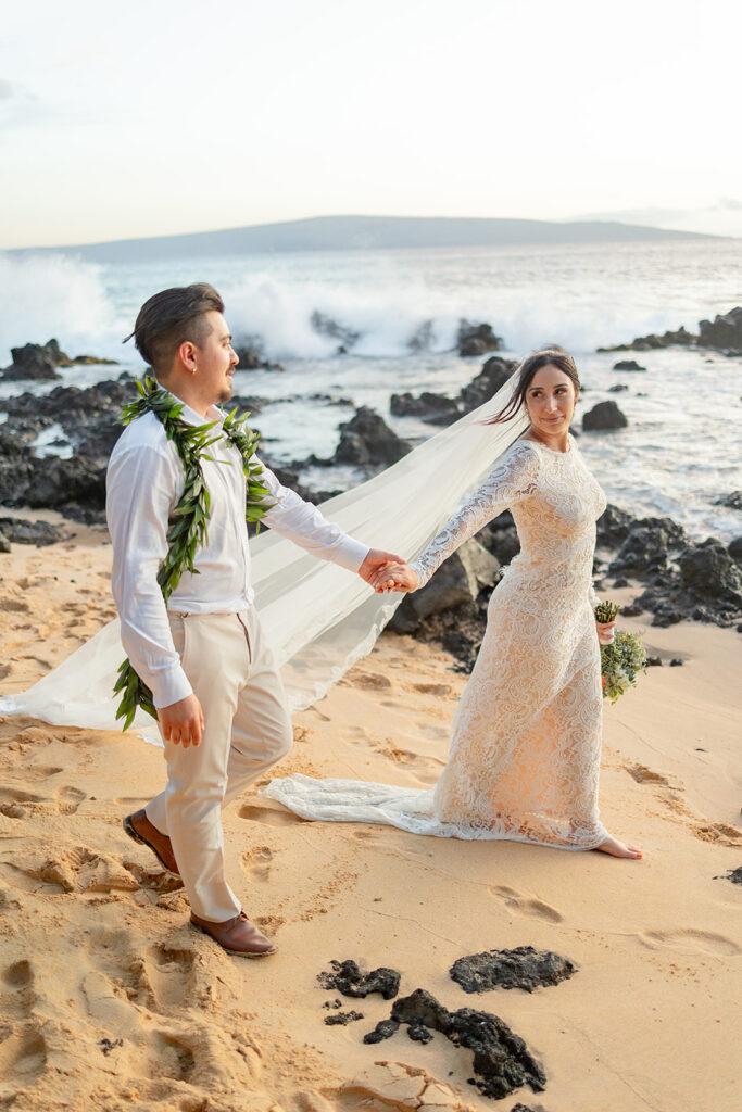
{"type": "MultiPolygon", "coordinates": [[[[615,220],[499,220],[478,217],[318,216],[281,224],[196,231],[182,236],[118,239],[106,244],[33,248],[34,254],[75,254],[100,262],[142,262],[275,251],[384,248],[502,247],[526,244],[597,244],[631,240],[708,239],[615,220]]],[[[27,254],[17,248],[13,254],[27,254]]]]}

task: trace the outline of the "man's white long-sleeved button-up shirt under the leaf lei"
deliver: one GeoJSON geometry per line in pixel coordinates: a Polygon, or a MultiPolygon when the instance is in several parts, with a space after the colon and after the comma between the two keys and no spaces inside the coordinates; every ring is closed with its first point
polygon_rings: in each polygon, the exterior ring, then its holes
{"type": "MultiPolygon", "coordinates": [[[[184,405],[189,425],[224,420],[211,407],[201,417],[184,405]]],[[[212,433],[216,433],[215,428],[212,433]]],[[[111,590],[121,618],[121,642],[131,665],[151,689],[156,707],[170,706],[192,687],[175,651],[167,609],[230,614],[253,605],[250,550],[245,523],[246,480],[239,451],[221,437],[201,457],[211,499],[207,542],[196,550],[198,575],[185,572],[167,608],[157,573],[168,552],[168,519],[185,485],[180,457],[160,420],[148,413],[121,434],[108,463],[106,514],[113,545],[111,590]]],[[[319,510],[281,486],[267,467],[263,481],[271,509],[266,525],[319,559],[357,572],[368,546],[348,537],[319,510]]]]}

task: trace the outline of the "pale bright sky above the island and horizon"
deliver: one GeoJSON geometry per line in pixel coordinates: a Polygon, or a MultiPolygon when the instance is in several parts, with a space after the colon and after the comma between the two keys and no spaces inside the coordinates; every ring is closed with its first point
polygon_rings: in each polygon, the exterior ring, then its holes
{"type": "Polygon", "coordinates": [[[24,0],[0,249],[333,214],[742,236],[738,0],[24,0]]]}

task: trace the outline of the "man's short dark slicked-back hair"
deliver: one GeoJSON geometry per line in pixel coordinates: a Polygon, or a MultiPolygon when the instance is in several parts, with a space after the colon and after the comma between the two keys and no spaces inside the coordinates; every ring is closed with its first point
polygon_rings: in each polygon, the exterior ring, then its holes
{"type": "Polygon", "coordinates": [[[164,289],[145,301],[126,340],[133,336],[137,350],[154,370],[168,370],[186,340],[202,346],[211,330],[205,314],[211,309],[224,312],[224,301],[208,282],[164,289]]]}

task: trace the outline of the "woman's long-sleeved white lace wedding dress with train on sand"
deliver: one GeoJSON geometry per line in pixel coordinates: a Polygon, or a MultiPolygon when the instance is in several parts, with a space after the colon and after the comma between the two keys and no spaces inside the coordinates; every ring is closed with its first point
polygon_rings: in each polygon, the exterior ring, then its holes
{"type": "Polygon", "coordinates": [[[290,776],[264,794],[304,818],[387,823],[439,837],[593,850],[602,693],[592,588],[605,496],[575,441],[518,440],[412,564],[419,586],[504,509],[521,552],[493,592],[487,628],[456,711],[436,786],[410,791],[290,776]]]}

